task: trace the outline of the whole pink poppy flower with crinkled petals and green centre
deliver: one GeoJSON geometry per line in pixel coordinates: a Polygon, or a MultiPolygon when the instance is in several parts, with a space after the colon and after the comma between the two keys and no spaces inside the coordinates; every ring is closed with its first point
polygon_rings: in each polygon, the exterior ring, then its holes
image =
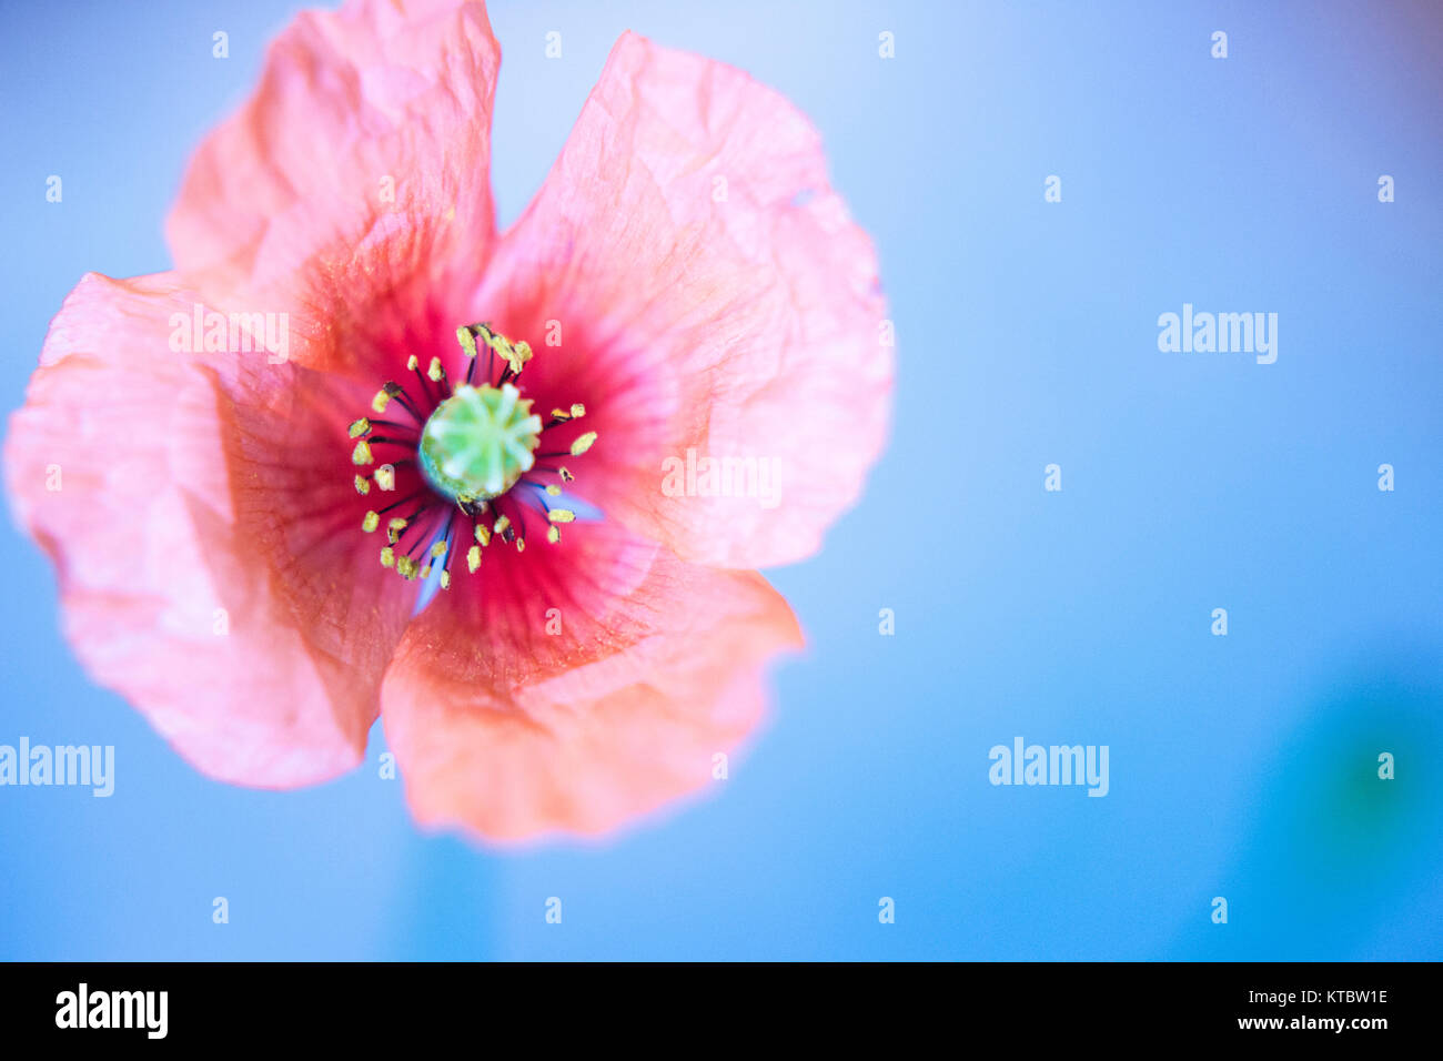
{"type": "Polygon", "coordinates": [[[325,781],[380,716],[416,818],[492,840],[711,782],[801,644],[753,569],[856,501],[892,378],[782,97],[626,33],[498,232],[498,68],[479,3],[300,14],[6,445],[76,655],[198,769],[325,781]]]}

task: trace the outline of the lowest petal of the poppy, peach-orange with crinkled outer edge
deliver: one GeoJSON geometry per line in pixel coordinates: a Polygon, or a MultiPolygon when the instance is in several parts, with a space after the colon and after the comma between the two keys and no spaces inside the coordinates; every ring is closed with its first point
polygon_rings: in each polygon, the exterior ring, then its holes
{"type": "MultiPolygon", "coordinates": [[[[544,609],[535,622],[547,637],[544,609]]],[[[436,651],[440,628],[401,642],[382,717],[421,824],[491,840],[602,833],[713,784],[714,756],[762,716],[765,661],[801,644],[762,576],[670,553],[606,622],[561,622],[573,665],[519,686],[481,680],[495,667],[475,631],[452,635],[472,665],[436,651]]]]}

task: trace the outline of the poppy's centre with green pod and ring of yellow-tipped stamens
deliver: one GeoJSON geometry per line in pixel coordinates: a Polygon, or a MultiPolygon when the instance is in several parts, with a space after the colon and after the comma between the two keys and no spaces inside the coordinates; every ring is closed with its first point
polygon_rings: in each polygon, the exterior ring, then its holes
{"type": "Polygon", "coordinates": [[[456,339],[465,355],[462,383],[452,385],[440,358],[423,372],[413,355],[405,365],[416,374],[411,388],[388,380],[371,401],[374,416],[348,429],[355,440],[351,462],[378,465],[355,476],[356,492],[368,495],[375,486],[381,495],[398,495],[367,510],[361,521],[368,534],[385,527],[381,564],[405,579],[424,579],[436,564],[442,589],[450,589],[453,556],[465,553],[466,570],[475,575],[482,549],[494,540],[524,551],[528,525],[540,524],[545,540],[560,544],[561,525],[576,512],[556,499],[561,484],[576,476],[556,462],[582,456],[596,442],[596,432],[571,427],[586,416],[580,403],[553,409],[544,423],[531,413],[531,398],[515,385],[531,359],[530,345],[483,323],[457,328],[456,339]],[[380,419],[392,416],[392,407],[397,419],[380,419]],[[537,452],[543,436],[547,449],[537,452]]]}

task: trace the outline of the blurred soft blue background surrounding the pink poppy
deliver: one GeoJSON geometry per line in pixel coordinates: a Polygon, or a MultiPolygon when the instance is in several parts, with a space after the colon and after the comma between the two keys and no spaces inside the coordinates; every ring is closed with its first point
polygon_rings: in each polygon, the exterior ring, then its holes
{"type": "MultiPolygon", "coordinates": [[[[85,270],[169,267],[185,160],[289,17],[4,4],[7,407],[85,270]]],[[[51,569],[6,525],[0,743],[113,743],[117,790],[0,788],[0,957],[1443,957],[1427,4],[626,0],[492,20],[502,222],[626,27],[743,66],[821,128],[882,256],[899,375],[863,504],[769,572],[810,651],[709,797],[602,844],[486,852],[411,826],[380,728],[368,765],[319,788],[199,777],[79,673],[51,569]],[[1183,302],[1278,313],[1277,362],[1160,354],[1157,315],[1183,302]],[[988,749],[1019,735],[1110,745],[1110,795],[991,787],[988,749]]]]}

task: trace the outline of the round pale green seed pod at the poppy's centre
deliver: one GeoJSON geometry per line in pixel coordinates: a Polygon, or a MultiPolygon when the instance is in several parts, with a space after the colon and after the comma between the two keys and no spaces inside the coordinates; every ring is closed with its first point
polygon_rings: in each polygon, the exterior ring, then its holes
{"type": "Polygon", "coordinates": [[[509,383],[462,384],[421,430],[418,459],[427,482],[452,501],[489,501],[535,465],[541,417],[509,383]]]}

